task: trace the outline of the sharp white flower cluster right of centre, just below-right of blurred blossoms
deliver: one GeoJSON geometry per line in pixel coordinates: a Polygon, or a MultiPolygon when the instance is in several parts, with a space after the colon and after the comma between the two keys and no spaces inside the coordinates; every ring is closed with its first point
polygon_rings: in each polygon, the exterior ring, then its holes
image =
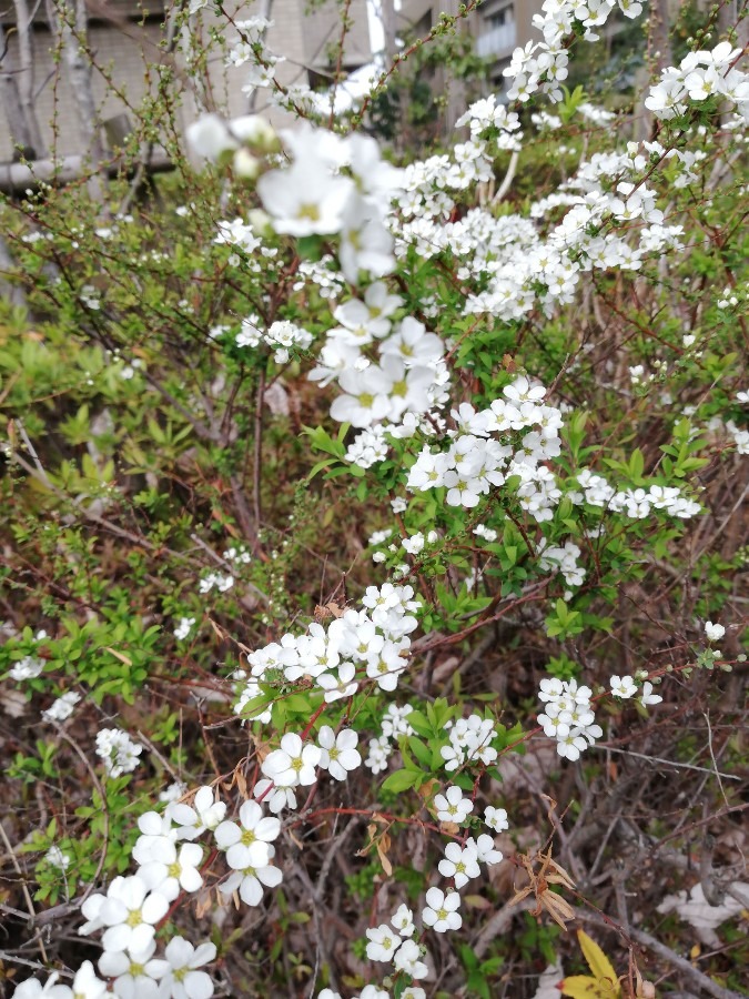
{"type": "Polygon", "coordinates": [[[550,519],[551,508],[561,496],[551,472],[540,463],[560,452],[561,413],[541,402],[546,390],[533,385],[525,375],[504,390],[505,398],[495,400],[488,410],[475,411],[462,403],[453,411],[457,428],[449,432],[446,452],[425,446],[408,473],[407,487],[426,492],[445,486],[449,506],[474,507],[492,486],[500,486],[513,475],[519,476],[520,505],[537,521],[550,519]],[[519,431],[537,427],[519,437],[519,431]],[[510,440],[499,443],[489,434],[499,433],[510,440]]]}

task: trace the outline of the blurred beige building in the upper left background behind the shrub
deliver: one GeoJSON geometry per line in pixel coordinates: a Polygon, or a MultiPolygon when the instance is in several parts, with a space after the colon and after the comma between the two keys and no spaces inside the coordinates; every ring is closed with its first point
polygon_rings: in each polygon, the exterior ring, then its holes
{"type": "MultiPolygon", "coordinates": [[[[181,4],[182,6],[182,4],[181,4]]],[[[192,7],[198,4],[194,2],[192,7]]],[[[206,79],[195,94],[184,62],[178,51],[165,51],[171,3],[164,0],[68,0],[84,23],[84,32],[92,60],[80,56],[75,69],[65,58],[60,41],[64,21],[60,19],[61,0],[7,0],[0,10],[0,162],[19,158],[18,147],[27,159],[80,155],[90,145],[82,124],[81,80],[89,62],[90,89],[95,117],[104,147],[122,141],[138,115],[144,97],[154,93],[165,67],[182,81],[181,103],[176,109],[178,124],[184,127],[200,113],[208,99],[215,109],[229,114],[249,110],[247,95],[242,85],[247,67],[226,67],[219,48],[211,48],[206,79]],[[165,27],[166,26],[166,27],[165,27]],[[93,70],[90,70],[90,62],[93,70]],[[79,77],[75,77],[75,73],[79,77]]],[[[266,34],[267,48],[285,61],[277,67],[281,83],[304,83],[321,87],[330,82],[336,65],[333,51],[341,38],[341,13],[335,0],[307,12],[306,0],[264,0],[234,2],[224,9],[236,20],[267,13],[273,27],[266,34]]],[[[341,69],[352,71],[371,61],[366,0],[352,0],[341,69]]],[[[206,46],[210,33],[221,28],[227,37],[226,22],[213,14],[210,7],[191,18],[192,43],[206,46]]],[[[71,49],[72,51],[72,49],[71,49]]],[[[276,121],[281,112],[267,109],[262,93],[255,110],[269,111],[276,121]]]]}

